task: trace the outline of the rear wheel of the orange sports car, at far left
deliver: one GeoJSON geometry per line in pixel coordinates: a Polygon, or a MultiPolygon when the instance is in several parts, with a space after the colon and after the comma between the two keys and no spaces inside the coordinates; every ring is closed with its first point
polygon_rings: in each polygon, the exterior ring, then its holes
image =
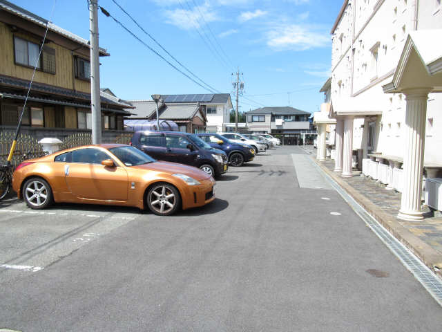
{"type": "Polygon", "coordinates": [[[23,199],[31,209],[44,209],[52,203],[52,190],[42,178],[30,178],[23,185],[23,199]]]}

